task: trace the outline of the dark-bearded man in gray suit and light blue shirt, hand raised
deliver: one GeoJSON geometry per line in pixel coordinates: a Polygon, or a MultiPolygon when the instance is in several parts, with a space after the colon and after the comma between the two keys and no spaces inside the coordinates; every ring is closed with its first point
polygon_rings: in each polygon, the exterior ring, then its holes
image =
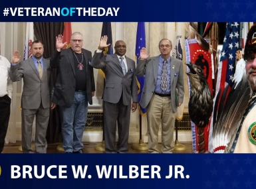
{"type": "Polygon", "coordinates": [[[47,153],[47,127],[50,106],[50,61],[43,58],[43,43],[35,40],[32,45],[31,58],[19,62],[19,52],[13,52],[11,64],[11,80],[17,82],[23,78],[23,93],[21,96],[21,131],[23,153],[33,153],[31,148],[32,126],[35,125],[35,150],[37,153],[47,153]]]}

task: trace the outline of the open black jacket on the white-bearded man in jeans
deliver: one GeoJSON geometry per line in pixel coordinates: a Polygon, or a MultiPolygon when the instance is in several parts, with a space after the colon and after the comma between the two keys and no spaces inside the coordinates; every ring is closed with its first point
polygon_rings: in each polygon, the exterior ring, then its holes
{"type": "MultiPolygon", "coordinates": [[[[92,59],[92,52],[82,48],[82,54],[86,64],[84,69],[86,72],[86,81],[84,81],[86,82],[86,94],[88,102],[92,105],[92,92],[95,91],[93,68],[89,64],[92,59]]],[[[50,66],[51,68],[59,68],[53,92],[53,103],[63,107],[71,107],[76,87],[72,49],[63,49],[61,52],[55,50],[50,59],[50,66]]]]}

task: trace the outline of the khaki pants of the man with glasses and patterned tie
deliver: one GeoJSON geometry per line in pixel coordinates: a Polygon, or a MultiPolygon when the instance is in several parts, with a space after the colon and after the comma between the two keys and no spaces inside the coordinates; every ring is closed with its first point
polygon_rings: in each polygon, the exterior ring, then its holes
{"type": "Polygon", "coordinates": [[[162,124],[162,153],[172,153],[175,119],[171,97],[154,94],[147,107],[148,152],[158,153],[158,131],[162,124]]]}

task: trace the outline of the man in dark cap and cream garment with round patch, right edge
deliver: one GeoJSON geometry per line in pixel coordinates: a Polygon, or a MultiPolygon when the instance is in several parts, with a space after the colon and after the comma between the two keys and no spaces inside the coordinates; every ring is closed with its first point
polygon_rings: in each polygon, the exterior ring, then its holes
{"type": "Polygon", "coordinates": [[[247,34],[244,60],[251,97],[225,153],[256,153],[256,25],[247,34]]]}

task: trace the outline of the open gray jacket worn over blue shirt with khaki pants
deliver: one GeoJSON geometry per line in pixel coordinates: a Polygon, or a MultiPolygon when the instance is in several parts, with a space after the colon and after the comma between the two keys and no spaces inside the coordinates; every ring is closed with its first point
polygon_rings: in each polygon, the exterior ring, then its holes
{"type": "MultiPolygon", "coordinates": [[[[145,84],[142,90],[142,97],[140,98],[140,105],[147,107],[154,91],[156,90],[156,80],[158,77],[159,57],[150,57],[147,60],[139,60],[136,76],[141,77],[145,75],[145,84]]],[[[177,111],[175,90],[178,89],[179,102],[183,103],[184,99],[184,73],[182,61],[171,57],[171,98],[172,109],[174,113],[177,111]]]]}

